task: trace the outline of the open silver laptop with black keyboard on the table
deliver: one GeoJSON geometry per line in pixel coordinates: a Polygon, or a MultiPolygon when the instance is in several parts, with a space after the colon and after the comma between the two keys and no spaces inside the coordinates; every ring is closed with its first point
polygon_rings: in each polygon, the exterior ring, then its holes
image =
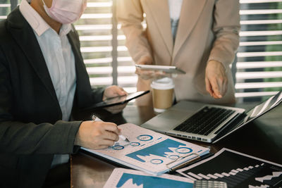
{"type": "Polygon", "coordinates": [[[228,134],[255,120],[281,104],[282,92],[254,106],[250,111],[243,108],[180,101],[141,127],[201,142],[216,143],[228,134]]]}

